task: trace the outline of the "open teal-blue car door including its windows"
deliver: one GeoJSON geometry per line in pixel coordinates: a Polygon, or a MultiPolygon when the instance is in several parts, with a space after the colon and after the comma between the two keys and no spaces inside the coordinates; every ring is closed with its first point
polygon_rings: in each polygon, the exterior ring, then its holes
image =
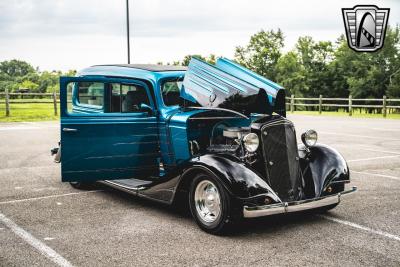
{"type": "Polygon", "coordinates": [[[61,77],[62,181],[158,174],[158,120],[149,90],[138,80],[61,77]]]}

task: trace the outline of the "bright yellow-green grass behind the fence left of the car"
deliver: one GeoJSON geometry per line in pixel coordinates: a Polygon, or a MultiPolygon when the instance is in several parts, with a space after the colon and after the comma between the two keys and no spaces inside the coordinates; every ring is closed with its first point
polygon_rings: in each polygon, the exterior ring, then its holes
{"type": "MultiPolygon", "coordinates": [[[[58,108],[60,106],[58,105],[58,108]]],[[[39,104],[10,104],[10,116],[6,117],[5,104],[0,104],[0,122],[17,121],[51,121],[58,120],[54,116],[54,106],[50,103],[39,104]]],[[[60,113],[60,110],[58,110],[60,113]]]]}

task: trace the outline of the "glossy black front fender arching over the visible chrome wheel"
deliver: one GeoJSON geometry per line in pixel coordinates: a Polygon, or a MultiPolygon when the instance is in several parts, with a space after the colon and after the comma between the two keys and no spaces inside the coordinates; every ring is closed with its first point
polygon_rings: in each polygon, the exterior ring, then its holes
{"type": "Polygon", "coordinates": [[[213,173],[231,196],[237,199],[251,199],[264,195],[280,202],[279,197],[261,175],[232,155],[205,154],[194,157],[187,162],[182,179],[185,179],[185,177],[187,179],[188,176],[193,178],[190,176],[197,171],[213,173]]]}

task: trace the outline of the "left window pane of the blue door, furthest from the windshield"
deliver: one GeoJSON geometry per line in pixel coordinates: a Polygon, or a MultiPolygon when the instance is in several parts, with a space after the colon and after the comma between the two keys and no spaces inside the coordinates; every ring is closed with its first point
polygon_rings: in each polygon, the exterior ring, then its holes
{"type": "Polygon", "coordinates": [[[68,113],[103,112],[105,84],[100,82],[71,82],[67,85],[68,113]]]}

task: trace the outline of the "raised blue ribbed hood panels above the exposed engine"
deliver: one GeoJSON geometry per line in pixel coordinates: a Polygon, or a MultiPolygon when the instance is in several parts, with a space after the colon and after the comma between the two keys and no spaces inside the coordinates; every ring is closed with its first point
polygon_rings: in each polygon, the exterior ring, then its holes
{"type": "Polygon", "coordinates": [[[181,97],[201,107],[231,109],[245,115],[286,115],[282,86],[225,58],[215,65],[192,58],[181,97]]]}

